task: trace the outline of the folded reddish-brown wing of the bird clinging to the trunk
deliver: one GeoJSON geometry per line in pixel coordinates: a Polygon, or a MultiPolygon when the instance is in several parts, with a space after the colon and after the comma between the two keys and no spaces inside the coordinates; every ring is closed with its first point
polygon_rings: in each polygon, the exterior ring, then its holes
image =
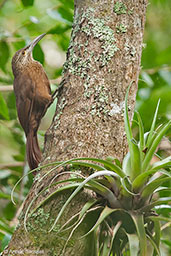
{"type": "Polygon", "coordinates": [[[17,77],[14,80],[14,92],[16,95],[16,107],[18,118],[27,136],[34,104],[35,85],[29,76],[17,77]]]}

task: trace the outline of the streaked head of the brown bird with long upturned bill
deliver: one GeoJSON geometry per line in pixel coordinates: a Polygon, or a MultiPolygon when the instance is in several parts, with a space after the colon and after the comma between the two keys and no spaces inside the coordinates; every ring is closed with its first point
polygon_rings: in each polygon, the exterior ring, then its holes
{"type": "Polygon", "coordinates": [[[18,50],[12,58],[12,70],[14,75],[17,74],[19,70],[22,70],[26,65],[28,65],[32,58],[32,51],[35,45],[45,36],[46,34],[42,34],[36,37],[29,45],[18,50]]]}

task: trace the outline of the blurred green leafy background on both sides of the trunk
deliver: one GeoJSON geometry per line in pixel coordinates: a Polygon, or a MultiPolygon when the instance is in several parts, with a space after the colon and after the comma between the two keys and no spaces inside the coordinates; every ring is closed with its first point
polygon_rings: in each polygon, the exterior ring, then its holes
{"type": "MultiPolygon", "coordinates": [[[[14,206],[11,190],[28,167],[25,137],[17,121],[12,91],[11,58],[34,37],[46,32],[34,49],[34,58],[43,64],[54,90],[60,82],[69,45],[73,6],[73,0],[0,0],[0,250],[10,239],[20,213],[19,205],[32,183],[32,177],[22,180],[14,194],[17,201],[14,206]]],[[[149,0],[141,66],[136,109],[148,131],[159,98],[158,123],[171,117],[171,0],[149,0]]],[[[42,122],[39,132],[42,146],[54,111],[55,104],[42,122]]],[[[169,151],[168,141],[166,145],[169,151]]],[[[169,209],[165,211],[168,216],[169,209]]],[[[163,244],[171,248],[164,234],[163,244]]]]}

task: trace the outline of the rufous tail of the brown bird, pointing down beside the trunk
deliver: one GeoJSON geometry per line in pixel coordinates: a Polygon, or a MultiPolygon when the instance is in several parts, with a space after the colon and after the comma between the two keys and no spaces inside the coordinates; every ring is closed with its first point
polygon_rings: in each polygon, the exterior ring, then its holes
{"type": "Polygon", "coordinates": [[[34,131],[30,131],[27,134],[26,152],[30,169],[33,170],[37,168],[41,161],[41,151],[38,144],[37,134],[34,134],[34,131]]]}

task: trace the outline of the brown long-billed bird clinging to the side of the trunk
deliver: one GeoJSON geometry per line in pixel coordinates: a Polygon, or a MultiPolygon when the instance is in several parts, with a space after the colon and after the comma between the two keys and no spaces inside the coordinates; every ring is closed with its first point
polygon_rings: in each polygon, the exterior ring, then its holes
{"type": "Polygon", "coordinates": [[[38,167],[42,158],[37,132],[42,117],[53,102],[49,79],[42,64],[32,56],[34,47],[45,35],[37,36],[12,58],[17,114],[25,132],[26,155],[31,170],[38,167]]]}

